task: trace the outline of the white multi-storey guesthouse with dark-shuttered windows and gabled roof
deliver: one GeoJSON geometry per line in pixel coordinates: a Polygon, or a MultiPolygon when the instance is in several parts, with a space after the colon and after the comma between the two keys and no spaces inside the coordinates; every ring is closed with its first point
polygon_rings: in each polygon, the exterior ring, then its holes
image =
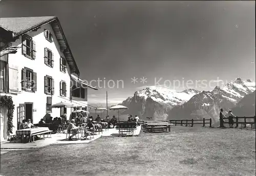
{"type": "MultiPolygon", "coordinates": [[[[84,88],[74,91],[84,93],[79,93],[72,104],[87,107],[87,88],[96,88],[71,77],[79,77],[79,70],[57,17],[1,18],[0,22],[0,95],[11,96],[15,105],[13,133],[23,119],[38,123],[47,113],[53,118],[64,113],[69,116],[72,108],[50,107],[60,102],[72,103],[72,85],[76,82],[84,88]]],[[[8,110],[1,104],[2,141],[8,134],[8,110]]]]}

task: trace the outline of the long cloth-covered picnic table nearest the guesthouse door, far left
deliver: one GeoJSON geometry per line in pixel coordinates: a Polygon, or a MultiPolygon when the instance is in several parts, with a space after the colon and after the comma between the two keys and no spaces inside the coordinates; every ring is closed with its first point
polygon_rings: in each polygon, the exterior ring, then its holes
{"type": "Polygon", "coordinates": [[[49,132],[51,133],[52,131],[50,131],[48,127],[29,128],[29,129],[17,130],[16,136],[28,135],[29,141],[30,141],[32,136],[45,134],[49,132]]]}

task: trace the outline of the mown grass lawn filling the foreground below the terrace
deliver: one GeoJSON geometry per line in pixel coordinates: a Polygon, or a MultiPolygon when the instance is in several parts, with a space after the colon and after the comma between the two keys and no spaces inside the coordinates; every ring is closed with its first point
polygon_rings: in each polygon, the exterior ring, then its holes
{"type": "Polygon", "coordinates": [[[174,127],[1,155],[1,175],[255,175],[255,131],[174,127]]]}

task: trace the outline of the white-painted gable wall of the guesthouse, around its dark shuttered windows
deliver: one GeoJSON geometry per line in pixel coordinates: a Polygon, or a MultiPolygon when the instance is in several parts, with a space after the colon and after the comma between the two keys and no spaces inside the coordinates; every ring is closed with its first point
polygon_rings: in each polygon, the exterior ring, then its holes
{"type": "MultiPolygon", "coordinates": [[[[17,126],[17,107],[19,104],[24,104],[25,102],[33,102],[33,109],[36,109],[33,112],[33,123],[38,123],[39,120],[45,116],[46,114],[46,101],[47,96],[45,94],[45,76],[51,76],[54,79],[54,95],[52,96],[52,104],[56,104],[59,102],[69,102],[70,100],[70,68],[67,65],[67,72],[63,73],[60,71],[60,56],[65,58],[64,55],[60,52],[60,46],[57,42],[57,39],[54,35],[54,32],[50,26],[50,24],[45,24],[41,26],[37,31],[31,31],[27,33],[36,43],[36,59],[31,60],[22,55],[22,48],[17,50],[16,54],[9,55],[9,66],[15,65],[18,66],[18,83],[19,83],[19,93],[17,95],[11,95],[13,97],[13,102],[15,104],[13,124],[15,126],[14,132],[17,126]],[[53,42],[49,42],[46,40],[44,36],[44,29],[48,29],[53,35],[53,42]],[[54,54],[54,66],[53,68],[47,66],[45,64],[45,47],[51,49],[54,54]],[[34,72],[37,73],[37,91],[26,92],[22,90],[22,69],[24,67],[28,67],[33,69],[34,72]],[[62,98],[59,95],[59,82],[63,80],[67,84],[67,96],[62,98]],[[68,99],[68,100],[67,100],[68,99]]],[[[22,37],[20,36],[15,42],[12,43],[12,46],[22,46],[22,37]]],[[[15,80],[9,80],[9,82],[15,80]]],[[[71,113],[71,108],[67,108],[67,115],[69,116],[71,113]]],[[[60,109],[53,108],[51,116],[59,117],[60,109]]]]}

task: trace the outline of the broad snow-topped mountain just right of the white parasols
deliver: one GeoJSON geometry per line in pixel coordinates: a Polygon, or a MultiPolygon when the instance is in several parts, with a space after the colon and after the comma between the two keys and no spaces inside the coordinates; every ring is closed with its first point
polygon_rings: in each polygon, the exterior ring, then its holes
{"type": "Polygon", "coordinates": [[[129,108],[125,113],[136,113],[142,119],[146,119],[146,117],[167,118],[167,112],[170,109],[184,104],[199,92],[195,89],[176,92],[164,88],[146,87],[136,91],[133,97],[128,97],[120,105],[129,108]]]}

